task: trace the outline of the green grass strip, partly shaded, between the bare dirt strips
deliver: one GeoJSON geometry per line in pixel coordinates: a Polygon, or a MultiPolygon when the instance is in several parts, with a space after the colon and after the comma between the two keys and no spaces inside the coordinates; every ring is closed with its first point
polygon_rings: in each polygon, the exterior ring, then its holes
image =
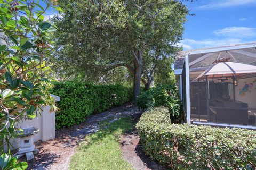
{"type": "Polygon", "coordinates": [[[130,117],[101,122],[101,130],[87,136],[77,148],[69,169],[133,169],[122,157],[119,138],[134,125],[130,117]]]}

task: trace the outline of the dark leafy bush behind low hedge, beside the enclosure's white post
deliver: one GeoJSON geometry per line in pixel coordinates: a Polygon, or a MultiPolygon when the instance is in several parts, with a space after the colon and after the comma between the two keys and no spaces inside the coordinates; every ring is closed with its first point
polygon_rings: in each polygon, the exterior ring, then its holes
{"type": "Polygon", "coordinates": [[[139,108],[168,107],[173,117],[180,116],[180,98],[176,86],[157,86],[147,91],[142,91],[137,99],[139,108]]]}

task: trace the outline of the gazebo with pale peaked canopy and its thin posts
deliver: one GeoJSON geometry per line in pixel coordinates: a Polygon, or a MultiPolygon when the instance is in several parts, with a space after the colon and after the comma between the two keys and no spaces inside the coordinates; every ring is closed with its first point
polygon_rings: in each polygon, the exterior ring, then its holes
{"type": "Polygon", "coordinates": [[[206,79],[206,108],[209,114],[209,81],[208,79],[232,78],[233,79],[233,99],[235,101],[235,77],[256,73],[256,66],[250,64],[229,62],[229,58],[219,58],[209,69],[200,74],[196,80],[206,79]]]}

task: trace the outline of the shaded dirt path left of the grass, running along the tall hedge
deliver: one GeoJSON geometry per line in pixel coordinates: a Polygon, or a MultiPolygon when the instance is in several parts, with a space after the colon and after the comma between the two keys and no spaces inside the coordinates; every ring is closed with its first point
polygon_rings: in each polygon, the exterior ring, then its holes
{"type": "Polygon", "coordinates": [[[110,109],[97,115],[92,115],[78,126],[70,129],[64,129],[57,132],[57,138],[46,142],[37,142],[39,154],[35,159],[28,162],[28,169],[61,169],[66,170],[69,166],[71,156],[75,152],[75,148],[84,137],[90,133],[97,132],[99,121],[108,120],[109,122],[117,121],[121,117],[140,115],[141,112],[137,107],[125,105],[110,109]]]}

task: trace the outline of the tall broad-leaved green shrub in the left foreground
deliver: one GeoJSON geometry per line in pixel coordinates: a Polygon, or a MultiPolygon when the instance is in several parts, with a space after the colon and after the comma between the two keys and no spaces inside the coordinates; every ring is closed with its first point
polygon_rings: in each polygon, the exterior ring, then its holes
{"type": "MultiPolygon", "coordinates": [[[[52,54],[50,36],[56,29],[44,18],[45,11],[52,6],[50,0],[41,1],[44,7],[34,0],[0,2],[0,152],[3,153],[4,145],[10,152],[9,140],[18,135],[15,127],[18,122],[35,118],[45,105],[50,105],[51,111],[57,108],[48,91],[51,81],[45,75],[52,54]]],[[[12,165],[16,159],[10,157],[2,155],[1,161],[10,160],[12,165]]]]}

